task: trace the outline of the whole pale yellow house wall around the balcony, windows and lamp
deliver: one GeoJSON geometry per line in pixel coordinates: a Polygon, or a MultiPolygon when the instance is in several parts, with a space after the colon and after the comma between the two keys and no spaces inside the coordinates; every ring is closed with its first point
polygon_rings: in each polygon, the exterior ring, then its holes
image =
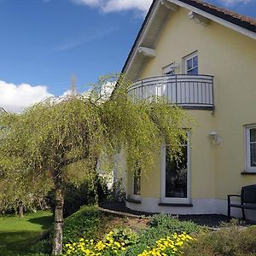
{"type": "MultiPolygon", "coordinates": [[[[198,51],[199,73],[214,76],[216,110],[189,110],[198,127],[192,136],[192,198],[225,199],[242,185],[256,183],[256,176],[242,176],[245,169],[244,126],[256,124],[256,40],[211,21],[196,24],[188,10],[170,15],[155,45],[156,57],[143,65],[139,79],[162,74],[172,62],[198,51]],[[223,139],[212,145],[209,131],[223,139]]],[[[160,198],[160,167],[143,178],[142,195],[160,198]]]]}

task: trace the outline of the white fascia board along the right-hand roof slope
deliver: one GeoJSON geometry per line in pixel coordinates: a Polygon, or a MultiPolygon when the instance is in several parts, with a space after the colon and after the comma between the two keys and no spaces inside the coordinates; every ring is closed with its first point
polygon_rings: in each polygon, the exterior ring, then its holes
{"type": "Polygon", "coordinates": [[[175,4],[181,6],[185,9],[189,9],[192,12],[195,12],[198,15],[204,16],[209,20],[213,20],[213,21],[215,21],[215,22],[217,22],[217,23],[219,23],[223,26],[229,27],[229,28],[235,30],[236,32],[240,32],[241,34],[246,35],[249,38],[256,39],[256,32],[249,31],[246,28],[243,28],[243,27],[238,26],[234,23],[231,23],[230,21],[221,19],[221,18],[219,18],[215,15],[211,15],[211,14],[209,14],[209,13],[207,13],[207,12],[201,10],[201,9],[198,9],[198,8],[192,6],[192,5],[189,5],[188,3],[183,3],[183,2],[180,2],[178,0],[166,0],[166,1],[169,1],[171,3],[175,3],[175,4]]]}

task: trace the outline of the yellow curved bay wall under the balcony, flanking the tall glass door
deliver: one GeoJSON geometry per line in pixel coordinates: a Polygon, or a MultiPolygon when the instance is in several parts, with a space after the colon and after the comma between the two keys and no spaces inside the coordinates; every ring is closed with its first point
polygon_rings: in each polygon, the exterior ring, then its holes
{"type": "MultiPolygon", "coordinates": [[[[216,180],[215,147],[208,137],[213,127],[212,112],[189,110],[189,114],[197,121],[196,129],[191,135],[191,196],[213,198],[216,180]]],[[[143,197],[160,198],[160,155],[156,161],[158,169],[142,177],[143,197]]],[[[131,193],[131,190],[129,192],[131,193]]]]}

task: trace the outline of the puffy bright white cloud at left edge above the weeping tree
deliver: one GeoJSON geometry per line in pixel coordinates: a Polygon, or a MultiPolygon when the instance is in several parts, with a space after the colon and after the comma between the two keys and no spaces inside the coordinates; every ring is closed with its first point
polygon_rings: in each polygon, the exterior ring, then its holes
{"type": "Polygon", "coordinates": [[[0,107],[9,112],[21,112],[24,108],[46,97],[53,96],[46,86],[30,84],[9,84],[0,80],[0,107]]]}

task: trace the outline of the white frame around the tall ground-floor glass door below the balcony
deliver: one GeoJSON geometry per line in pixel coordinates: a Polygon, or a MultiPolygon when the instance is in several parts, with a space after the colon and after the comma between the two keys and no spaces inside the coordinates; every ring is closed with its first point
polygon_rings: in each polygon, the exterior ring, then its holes
{"type": "Polygon", "coordinates": [[[166,146],[161,147],[161,203],[170,204],[190,204],[191,203],[191,148],[190,132],[188,132],[188,180],[187,180],[187,198],[166,197],[166,146]]]}

